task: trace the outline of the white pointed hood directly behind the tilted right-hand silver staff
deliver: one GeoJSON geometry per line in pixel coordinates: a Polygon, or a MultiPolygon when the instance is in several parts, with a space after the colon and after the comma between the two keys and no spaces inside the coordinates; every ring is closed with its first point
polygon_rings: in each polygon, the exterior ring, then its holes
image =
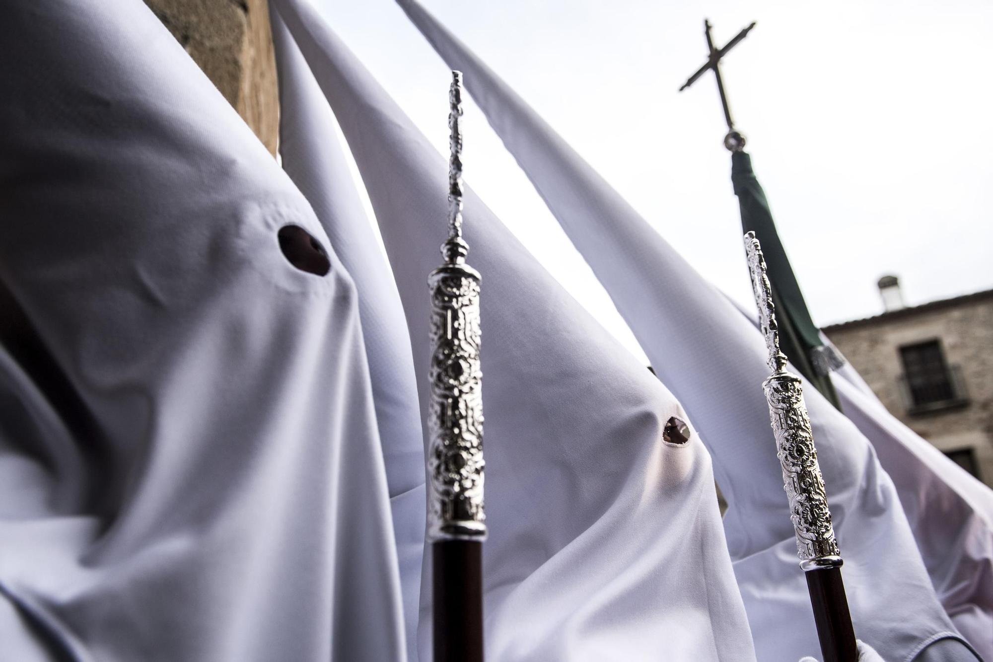
{"type": "MultiPolygon", "coordinates": [[[[762,390],[769,375],[762,337],[485,64],[418,4],[400,5],[449,67],[463,71],[473,98],[610,292],[659,378],[703,432],[730,503],[725,532],[759,659],[816,652],[762,390]]],[[[805,394],[856,633],[899,661],[935,639],[956,638],[872,446],[814,389],[805,394]]],[[[958,659],[973,659],[957,645],[958,659]]]]}

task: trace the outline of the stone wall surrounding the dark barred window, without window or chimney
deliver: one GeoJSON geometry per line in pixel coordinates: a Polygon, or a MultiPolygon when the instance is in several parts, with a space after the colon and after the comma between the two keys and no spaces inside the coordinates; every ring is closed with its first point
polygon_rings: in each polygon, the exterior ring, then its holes
{"type": "Polygon", "coordinates": [[[980,477],[993,486],[993,291],[826,327],[824,333],[886,408],[941,450],[972,448],[980,477]],[[957,366],[968,404],[910,414],[901,393],[900,347],[940,339],[957,366]]]}

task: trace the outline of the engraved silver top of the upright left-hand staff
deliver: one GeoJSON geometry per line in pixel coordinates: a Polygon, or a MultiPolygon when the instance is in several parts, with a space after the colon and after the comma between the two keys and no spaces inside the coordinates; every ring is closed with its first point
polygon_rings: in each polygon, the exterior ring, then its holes
{"type": "Polygon", "coordinates": [[[466,263],[462,239],[462,73],[449,92],[449,237],[431,290],[431,402],[428,405],[428,538],[486,539],[483,511],[483,370],[480,273],[466,263]]]}

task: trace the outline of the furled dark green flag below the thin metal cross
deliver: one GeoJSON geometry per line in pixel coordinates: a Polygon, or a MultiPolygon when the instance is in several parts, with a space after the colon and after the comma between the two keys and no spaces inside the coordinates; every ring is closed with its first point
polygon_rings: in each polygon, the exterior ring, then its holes
{"type": "Polygon", "coordinates": [[[731,182],[741,206],[742,232],[754,232],[766,255],[776,321],[780,326],[780,348],[803,377],[840,410],[828,373],[841,365],[841,357],[821,342],[820,331],[810,319],[803,293],[776,232],[766,192],[752,170],[752,156],[748,152],[731,154],[731,182]]]}

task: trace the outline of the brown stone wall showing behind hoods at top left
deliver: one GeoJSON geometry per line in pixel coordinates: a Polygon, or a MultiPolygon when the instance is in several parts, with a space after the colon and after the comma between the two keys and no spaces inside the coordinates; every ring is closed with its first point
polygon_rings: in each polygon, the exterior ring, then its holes
{"type": "Polygon", "coordinates": [[[145,0],[273,154],[276,62],[266,0],[145,0]]]}

